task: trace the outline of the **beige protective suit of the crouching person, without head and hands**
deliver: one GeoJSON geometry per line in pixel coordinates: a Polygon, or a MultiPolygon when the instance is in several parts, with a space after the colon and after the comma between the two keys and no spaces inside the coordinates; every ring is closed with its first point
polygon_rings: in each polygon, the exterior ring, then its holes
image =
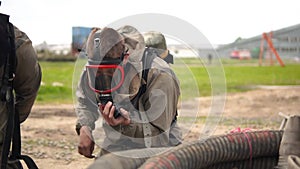
{"type": "MultiPolygon", "coordinates": [[[[101,145],[102,150],[120,151],[180,144],[182,134],[176,123],[176,107],[180,88],[175,73],[154,50],[145,52],[144,38],[135,28],[124,26],[118,29],[118,32],[124,37],[125,43],[129,46],[130,55],[126,63],[125,79],[126,77],[132,77],[130,75],[132,72],[138,72],[136,76],[140,80],[138,84],[131,83],[131,88],[137,90],[130,90],[134,94],[130,93],[127,96],[128,104],[131,106],[128,106],[126,110],[130,112],[131,123],[129,125],[109,126],[103,120],[101,127],[104,130],[105,138],[101,145]],[[135,40],[137,43],[131,43],[130,39],[135,40]],[[130,46],[134,47],[130,48],[130,46]],[[155,55],[147,82],[141,80],[143,55],[155,55]],[[146,83],[146,91],[136,98],[134,96],[138,92],[141,83],[146,83]]],[[[91,56],[93,52],[89,50],[92,49],[91,46],[94,46],[91,37],[93,35],[90,35],[86,50],[86,55],[89,58],[93,57],[91,56]]],[[[87,72],[84,70],[76,92],[78,99],[76,113],[79,124],[77,126],[88,126],[94,130],[95,121],[99,118],[100,113],[98,112],[95,93],[89,88],[86,79],[87,72]]],[[[121,98],[124,99],[124,95],[121,98]]]]}

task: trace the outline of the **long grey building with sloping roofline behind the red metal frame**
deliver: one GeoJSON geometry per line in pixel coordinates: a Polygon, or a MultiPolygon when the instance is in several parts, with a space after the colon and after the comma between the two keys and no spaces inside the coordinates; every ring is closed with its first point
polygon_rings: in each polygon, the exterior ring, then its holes
{"type": "MultiPolygon", "coordinates": [[[[272,31],[273,46],[281,58],[300,57],[300,24],[272,31]]],[[[251,56],[259,57],[262,35],[248,39],[237,40],[236,42],[222,45],[217,48],[220,57],[230,57],[232,51],[249,50],[251,56]]],[[[264,57],[268,49],[264,41],[264,57]]]]}

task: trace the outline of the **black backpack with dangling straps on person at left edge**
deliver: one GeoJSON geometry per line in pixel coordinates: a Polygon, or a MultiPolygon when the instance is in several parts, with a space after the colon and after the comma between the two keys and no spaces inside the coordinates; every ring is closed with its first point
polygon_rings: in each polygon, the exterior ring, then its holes
{"type": "MultiPolygon", "coordinates": [[[[0,13],[0,67],[3,67],[1,81],[1,101],[6,102],[8,119],[2,145],[1,169],[6,169],[8,159],[24,160],[30,169],[38,167],[27,155],[21,155],[21,134],[19,114],[15,111],[13,79],[16,69],[16,48],[14,26],[9,22],[9,16],[0,13]],[[11,149],[11,154],[9,151],[11,149]]],[[[23,168],[17,163],[18,168],[23,168]]]]}

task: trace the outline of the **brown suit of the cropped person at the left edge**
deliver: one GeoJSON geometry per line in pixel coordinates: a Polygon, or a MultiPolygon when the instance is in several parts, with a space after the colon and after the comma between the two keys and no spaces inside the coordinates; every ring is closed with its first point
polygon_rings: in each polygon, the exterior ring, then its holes
{"type": "MultiPolygon", "coordinates": [[[[15,93],[15,111],[19,113],[20,123],[24,122],[30,114],[41,82],[41,68],[37,60],[37,54],[32,46],[31,40],[26,33],[14,26],[16,66],[13,80],[13,90],[15,93]]],[[[2,77],[4,74],[4,60],[0,65],[0,87],[2,87],[2,77]]],[[[0,154],[8,123],[7,102],[0,101],[0,154]]],[[[0,155],[1,156],[1,155],[0,155]]],[[[0,157],[2,159],[2,156],[0,157]]],[[[14,162],[8,160],[7,168],[16,168],[14,162]]]]}

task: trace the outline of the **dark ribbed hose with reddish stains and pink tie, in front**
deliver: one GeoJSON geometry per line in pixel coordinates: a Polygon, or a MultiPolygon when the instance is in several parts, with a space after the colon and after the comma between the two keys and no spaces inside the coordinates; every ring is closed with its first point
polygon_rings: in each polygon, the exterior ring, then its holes
{"type": "MultiPolygon", "coordinates": [[[[219,163],[245,160],[249,161],[249,165],[245,168],[254,168],[251,161],[255,159],[278,158],[282,133],[282,131],[254,131],[217,136],[203,142],[178,146],[148,159],[140,168],[205,169],[219,163]]],[[[275,166],[276,163],[272,161],[272,164],[275,166]]]]}

